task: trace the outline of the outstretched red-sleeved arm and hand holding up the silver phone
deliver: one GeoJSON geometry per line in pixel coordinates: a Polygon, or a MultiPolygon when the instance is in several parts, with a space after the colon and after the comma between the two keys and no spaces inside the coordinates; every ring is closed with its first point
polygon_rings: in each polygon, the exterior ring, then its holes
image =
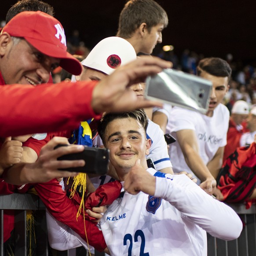
{"type": "Polygon", "coordinates": [[[80,121],[97,117],[95,113],[162,106],[139,100],[129,87],[170,67],[171,62],[147,56],[119,67],[98,84],[81,81],[37,87],[24,84],[0,86],[0,136],[73,129],[80,121]]]}

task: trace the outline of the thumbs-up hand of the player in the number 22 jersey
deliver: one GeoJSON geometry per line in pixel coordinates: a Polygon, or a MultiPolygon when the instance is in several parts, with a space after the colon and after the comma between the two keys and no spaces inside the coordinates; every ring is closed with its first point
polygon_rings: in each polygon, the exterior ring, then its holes
{"type": "Polygon", "coordinates": [[[147,172],[138,159],[125,177],[124,189],[134,195],[138,194],[139,191],[154,195],[156,190],[156,177],[147,172]]]}

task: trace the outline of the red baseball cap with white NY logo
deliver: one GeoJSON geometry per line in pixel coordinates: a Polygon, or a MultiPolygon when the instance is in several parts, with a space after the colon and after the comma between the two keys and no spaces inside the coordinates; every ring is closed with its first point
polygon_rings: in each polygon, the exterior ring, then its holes
{"type": "Polygon", "coordinates": [[[67,52],[66,36],[61,23],[41,11],[22,11],[15,15],[2,29],[12,37],[23,37],[34,48],[45,55],[59,58],[59,65],[72,73],[80,75],[80,62],[67,52]]]}

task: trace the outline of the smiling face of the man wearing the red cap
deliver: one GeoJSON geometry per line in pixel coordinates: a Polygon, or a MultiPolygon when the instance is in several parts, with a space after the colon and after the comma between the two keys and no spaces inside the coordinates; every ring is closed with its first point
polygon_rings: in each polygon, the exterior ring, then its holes
{"type": "Polygon", "coordinates": [[[47,83],[50,72],[60,62],[42,54],[24,39],[14,44],[13,39],[5,35],[0,38],[0,56],[0,70],[6,84],[47,83]]]}

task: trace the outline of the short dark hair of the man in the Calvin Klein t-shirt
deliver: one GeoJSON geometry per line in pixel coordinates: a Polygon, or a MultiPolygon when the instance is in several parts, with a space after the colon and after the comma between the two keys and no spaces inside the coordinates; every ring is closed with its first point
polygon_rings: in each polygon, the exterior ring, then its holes
{"type": "Polygon", "coordinates": [[[215,77],[228,77],[229,79],[232,73],[232,69],[225,60],[214,57],[201,59],[197,65],[197,75],[200,76],[202,71],[215,77]]]}

